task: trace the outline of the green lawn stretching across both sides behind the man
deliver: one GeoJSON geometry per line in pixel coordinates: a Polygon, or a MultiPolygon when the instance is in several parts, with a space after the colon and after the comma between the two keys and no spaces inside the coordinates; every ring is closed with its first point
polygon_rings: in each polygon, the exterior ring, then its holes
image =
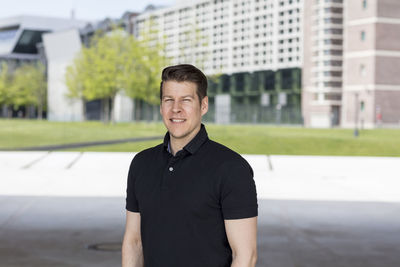
{"type": "MultiPolygon", "coordinates": [[[[400,129],[306,129],[266,125],[208,124],[211,139],[239,153],[274,155],[400,156],[400,129]]],[[[163,136],[161,123],[47,122],[0,120],[0,148],[163,136]]],[[[140,151],[159,141],[74,149],[79,151],[140,151]]]]}

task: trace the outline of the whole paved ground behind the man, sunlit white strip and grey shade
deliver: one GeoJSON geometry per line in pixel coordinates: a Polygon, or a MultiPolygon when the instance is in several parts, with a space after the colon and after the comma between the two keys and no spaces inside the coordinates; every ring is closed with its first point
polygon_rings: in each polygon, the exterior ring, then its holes
{"type": "MultiPolygon", "coordinates": [[[[0,266],[119,266],[133,155],[0,152],[0,266]]],[[[400,158],[245,157],[257,266],[400,266],[400,158]]]]}

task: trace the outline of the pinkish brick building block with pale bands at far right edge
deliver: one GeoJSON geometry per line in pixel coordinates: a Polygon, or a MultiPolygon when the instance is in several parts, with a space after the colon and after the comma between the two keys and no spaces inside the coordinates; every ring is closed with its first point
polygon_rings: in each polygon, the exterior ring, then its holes
{"type": "Polygon", "coordinates": [[[400,125],[400,1],[345,2],[342,126],[400,125]]]}

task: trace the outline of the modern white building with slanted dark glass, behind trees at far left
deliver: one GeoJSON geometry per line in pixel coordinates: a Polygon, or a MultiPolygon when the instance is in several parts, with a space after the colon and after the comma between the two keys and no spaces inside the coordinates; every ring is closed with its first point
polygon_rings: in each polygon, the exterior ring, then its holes
{"type": "MultiPolygon", "coordinates": [[[[78,21],[39,16],[17,16],[0,20],[0,63],[6,61],[11,69],[32,61],[42,61],[47,67],[47,119],[80,121],[84,110],[87,119],[101,119],[101,101],[83,103],[70,99],[65,84],[65,70],[80,51],[88,45],[95,31],[110,31],[117,24],[132,33],[132,18],[137,13],[125,12],[121,19],[99,22],[78,21]]],[[[132,100],[124,95],[115,99],[117,121],[132,120],[132,100]]],[[[6,107],[3,107],[6,114],[6,107]]],[[[23,108],[22,108],[23,109],[23,108]]],[[[31,112],[34,113],[34,110],[31,112]]],[[[34,115],[32,115],[34,116],[34,115]]]]}

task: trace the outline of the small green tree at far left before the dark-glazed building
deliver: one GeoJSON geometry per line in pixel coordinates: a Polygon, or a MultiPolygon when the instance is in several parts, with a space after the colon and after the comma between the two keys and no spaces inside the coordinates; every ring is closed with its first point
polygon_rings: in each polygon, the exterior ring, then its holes
{"type": "Polygon", "coordinates": [[[27,63],[18,67],[10,86],[11,102],[14,108],[34,106],[38,119],[42,119],[47,100],[45,67],[42,63],[27,63]]]}

